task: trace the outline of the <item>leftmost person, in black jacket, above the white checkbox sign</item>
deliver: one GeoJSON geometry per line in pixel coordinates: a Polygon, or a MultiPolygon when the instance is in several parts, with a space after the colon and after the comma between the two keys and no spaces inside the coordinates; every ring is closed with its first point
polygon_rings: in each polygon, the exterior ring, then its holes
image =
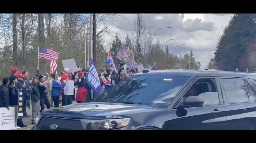
{"type": "Polygon", "coordinates": [[[9,105],[9,89],[10,80],[8,77],[3,78],[3,84],[0,86],[0,108],[5,107],[10,110],[9,105]]]}

